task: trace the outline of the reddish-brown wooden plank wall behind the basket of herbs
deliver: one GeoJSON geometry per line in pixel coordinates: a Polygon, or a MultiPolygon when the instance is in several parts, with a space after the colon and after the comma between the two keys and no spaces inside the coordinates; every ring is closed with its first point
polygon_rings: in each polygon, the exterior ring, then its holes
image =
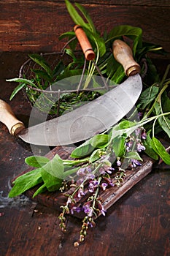
{"type": "MultiPolygon", "coordinates": [[[[74,2],[74,1],[72,1],[74,2]]],[[[164,1],[78,1],[88,10],[98,31],[117,25],[139,26],[147,42],[170,52],[170,2],[164,1]]],[[[58,37],[71,31],[74,23],[64,1],[0,0],[0,50],[61,50],[58,37]]],[[[166,56],[169,59],[169,54],[166,56]]]]}

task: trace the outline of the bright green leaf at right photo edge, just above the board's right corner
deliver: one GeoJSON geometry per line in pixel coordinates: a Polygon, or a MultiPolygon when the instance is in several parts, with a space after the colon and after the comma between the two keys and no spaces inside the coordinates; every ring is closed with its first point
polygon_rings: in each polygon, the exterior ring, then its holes
{"type": "Polygon", "coordinates": [[[150,145],[154,149],[154,151],[163,159],[163,162],[166,163],[166,165],[170,165],[170,155],[168,152],[166,152],[166,148],[162,145],[162,143],[155,137],[152,137],[152,140],[150,142],[150,145]]]}

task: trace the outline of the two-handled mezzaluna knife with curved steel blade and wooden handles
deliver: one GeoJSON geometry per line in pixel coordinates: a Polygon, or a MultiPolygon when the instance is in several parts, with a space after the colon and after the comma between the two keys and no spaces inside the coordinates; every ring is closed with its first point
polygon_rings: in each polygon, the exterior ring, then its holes
{"type": "Polygon", "coordinates": [[[133,59],[131,48],[117,39],[113,42],[113,54],[123,64],[128,78],[104,95],[63,116],[28,128],[15,117],[9,105],[0,99],[0,121],[12,135],[34,145],[70,145],[104,132],[134,108],[142,91],[140,67],[133,59]]]}

